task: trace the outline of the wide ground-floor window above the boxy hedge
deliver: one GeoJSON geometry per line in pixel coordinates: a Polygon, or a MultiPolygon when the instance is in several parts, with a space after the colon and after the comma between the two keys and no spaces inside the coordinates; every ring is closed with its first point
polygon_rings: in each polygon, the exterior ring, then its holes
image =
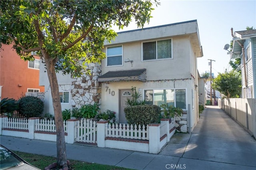
{"type": "Polygon", "coordinates": [[[149,105],[167,103],[186,110],[186,89],[147,89],[144,90],[144,99],[149,105]]]}

